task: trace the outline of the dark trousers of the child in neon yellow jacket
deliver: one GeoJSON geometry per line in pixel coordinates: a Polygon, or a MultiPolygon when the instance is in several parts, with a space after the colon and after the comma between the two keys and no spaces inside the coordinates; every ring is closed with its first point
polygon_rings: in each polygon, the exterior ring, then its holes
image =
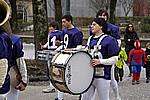
{"type": "Polygon", "coordinates": [[[123,72],[123,68],[118,68],[118,67],[115,67],[115,79],[117,82],[122,81],[122,77],[124,75],[124,72],[123,72]]]}

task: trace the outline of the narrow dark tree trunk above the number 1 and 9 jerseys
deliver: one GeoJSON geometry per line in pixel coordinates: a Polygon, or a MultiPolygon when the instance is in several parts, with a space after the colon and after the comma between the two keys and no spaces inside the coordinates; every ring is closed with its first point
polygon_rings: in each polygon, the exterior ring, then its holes
{"type": "Polygon", "coordinates": [[[55,21],[59,23],[59,28],[62,28],[61,25],[61,18],[62,18],[62,7],[61,7],[61,0],[54,0],[55,6],[55,21]]]}

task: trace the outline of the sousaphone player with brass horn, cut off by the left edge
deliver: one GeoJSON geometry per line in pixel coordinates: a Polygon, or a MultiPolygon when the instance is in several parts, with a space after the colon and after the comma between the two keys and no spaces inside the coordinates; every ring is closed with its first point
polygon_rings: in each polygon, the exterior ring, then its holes
{"type": "Polygon", "coordinates": [[[6,100],[10,90],[10,70],[12,42],[9,38],[11,33],[8,21],[10,8],[4,0],[0,0],[0,100],[6,100]],[[9,33],[10,32],[10,33],[9,33]]]}

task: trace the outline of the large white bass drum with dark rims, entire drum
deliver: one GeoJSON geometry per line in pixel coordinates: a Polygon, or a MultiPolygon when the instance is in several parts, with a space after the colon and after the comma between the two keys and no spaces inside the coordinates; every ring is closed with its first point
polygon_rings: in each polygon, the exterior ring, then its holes
{"type": "Polygon", "coordinates": [[[86,92],[95,73],[90,60],[91,56],[85,51],[57,53],[52,59],[50,69],[50,79],[54,87],[74,95],[86,92]]]}

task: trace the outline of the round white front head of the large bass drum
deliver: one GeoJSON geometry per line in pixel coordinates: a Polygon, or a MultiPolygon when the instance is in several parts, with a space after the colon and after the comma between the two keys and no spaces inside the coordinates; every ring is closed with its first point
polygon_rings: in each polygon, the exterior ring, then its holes
{"type": "Polygon", "coordinates": [[[69,59],[65,69],[65,82],[72,94],[81,94],[87,91],[93,82],[94,68],[91,56],[80,51],[69,59]]]}

